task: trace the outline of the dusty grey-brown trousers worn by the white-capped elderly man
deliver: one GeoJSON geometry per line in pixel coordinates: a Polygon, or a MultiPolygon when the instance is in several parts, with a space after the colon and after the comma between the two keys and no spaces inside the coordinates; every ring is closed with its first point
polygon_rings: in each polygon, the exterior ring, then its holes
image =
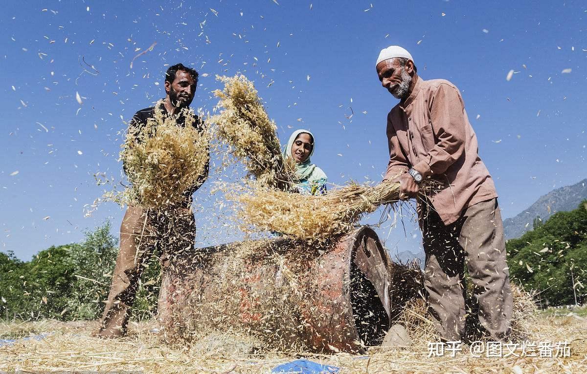
{"type": "Polygon", "coordinates": [[[507,338],[513,304],[497,199],[466,208],[450,225],[444,225],[433,209],[423,210],[424,287],[441,339],[459,341],[463,337],[467,314],[465,261],[481,326],[494,341],[507,338]]]}

